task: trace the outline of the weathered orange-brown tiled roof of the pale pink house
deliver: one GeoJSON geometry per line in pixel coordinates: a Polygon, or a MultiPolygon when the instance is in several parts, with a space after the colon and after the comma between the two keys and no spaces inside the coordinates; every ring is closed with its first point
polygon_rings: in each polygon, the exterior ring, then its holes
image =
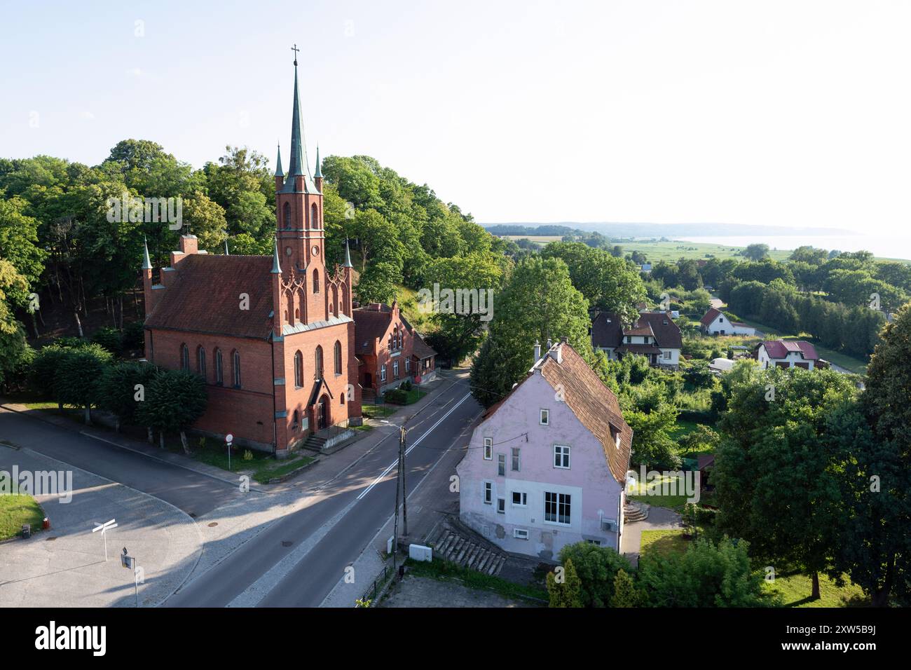
{"type": "Polygon", "coordinates": [[[623,420],[617,397],[575,349],[568,344],[555,345],[554,349],[557,347],[562,349],[562,361],[558,363],[553,356],[547,356],[540,364],[541,375],[555,390],[562,389],[572,413],[599,439],[610,473],[623,483],[630,467],[632,428],[623,420]],[[611,427],[619,430],[619,448],[611,435],[611,427]]]}

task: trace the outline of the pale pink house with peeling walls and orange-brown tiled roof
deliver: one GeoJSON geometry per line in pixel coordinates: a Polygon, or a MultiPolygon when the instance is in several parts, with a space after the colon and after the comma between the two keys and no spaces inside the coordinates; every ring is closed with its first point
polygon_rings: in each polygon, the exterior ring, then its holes
{"type": "Polygon", "coordinates": [[[556,558],[590,541],[619,551],[632,429],[617,397],[563,338],[472,435],[460,518],[507,551],[556,558]]]}

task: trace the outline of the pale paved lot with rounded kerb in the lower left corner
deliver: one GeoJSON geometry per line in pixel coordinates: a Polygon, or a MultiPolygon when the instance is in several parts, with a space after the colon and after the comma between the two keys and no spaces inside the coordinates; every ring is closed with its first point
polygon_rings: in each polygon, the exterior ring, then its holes
{"type": "Polygon", "coordinates": [[[144,572],[140,606],[162,602],[189,577],[202,554],[196,523],[169,503],[49,459],[0,446],[0,469],[71,471],[72,500],[36,498],[51,528],[0,544],[0,604],[12,607],[135,607],[133,573],[120,566],[127,547],[144,572]],[[104,540],[94,522],[116,519],[104,540]]]}

